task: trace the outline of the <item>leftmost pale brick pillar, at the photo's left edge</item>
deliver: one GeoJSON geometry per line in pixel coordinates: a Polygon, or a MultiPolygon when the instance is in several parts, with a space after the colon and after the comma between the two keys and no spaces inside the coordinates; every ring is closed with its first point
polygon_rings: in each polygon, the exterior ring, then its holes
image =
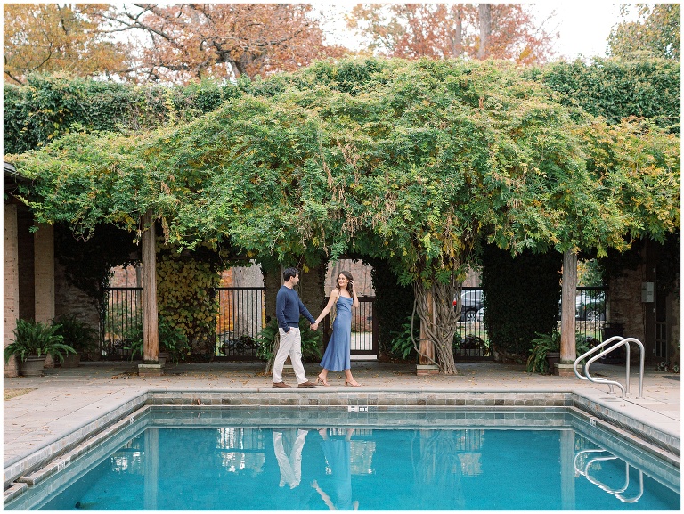
{"type": "MultiPolygon", "coordinates": [[[[19,318],[19,231],[17,229],[17,206],[4,206],[4,339],[3,348],[14,338],[19,318]]],[[[4,364],[4,376],[19,374],[17,359],[12,357],[4,364]]]]}

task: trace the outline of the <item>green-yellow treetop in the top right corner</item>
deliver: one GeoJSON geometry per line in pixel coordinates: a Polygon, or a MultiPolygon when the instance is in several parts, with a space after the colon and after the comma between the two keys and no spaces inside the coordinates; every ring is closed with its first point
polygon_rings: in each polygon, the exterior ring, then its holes
{"type": "Polygon", "coordinates": [[[662,57],[680,60],[680,4],[636,4],[638,19],[626,20],[630,6],[620,7],[623,21],[615,25],[608,37],[608,54],[630,58],[662,57]]]}

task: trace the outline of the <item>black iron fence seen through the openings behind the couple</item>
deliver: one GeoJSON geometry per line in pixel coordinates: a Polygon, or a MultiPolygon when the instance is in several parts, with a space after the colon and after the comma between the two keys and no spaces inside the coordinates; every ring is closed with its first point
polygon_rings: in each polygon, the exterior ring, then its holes
{"type": "MultiPolygon", "coordinates": [[[[142,330],[142,288],[107,288],[102,316],[101,349],[108,359],[125,359],[127,339],[142,330]]],[[[216,288],[216,358],[255,360],[256,336],[265,327],[265,288],[216,288]]],[[[607,324],[606,289],[577,288],[576,330],[591,342],[604,339],[607,324]]],[[[378,355],[378,322],[373,316],[374,297],[359,298],[352,318],[352,355],[378,355]]],[[[454,338],[454,356],[459,360],[490,359],[485,330],[484,294],[480,288],[461,290],[461,316],[454,338]]],[[[558,317],[560,319],[560,317],[558,317]]],[[[330,316],[322,322],[323,342],[328,344],[330,316]]],[[[611,332],[612,334],[612,332],[611,332]]]]}

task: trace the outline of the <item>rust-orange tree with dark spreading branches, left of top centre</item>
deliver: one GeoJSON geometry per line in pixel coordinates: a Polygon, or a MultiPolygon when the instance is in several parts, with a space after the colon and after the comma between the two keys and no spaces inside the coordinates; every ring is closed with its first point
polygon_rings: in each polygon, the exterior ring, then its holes
{"type": "Polygon", "coordinates": [[[325,45],[311,4],[133,4],[106,14],[142,35],[138,79],[264,77],[345,49],[325,45]]]}

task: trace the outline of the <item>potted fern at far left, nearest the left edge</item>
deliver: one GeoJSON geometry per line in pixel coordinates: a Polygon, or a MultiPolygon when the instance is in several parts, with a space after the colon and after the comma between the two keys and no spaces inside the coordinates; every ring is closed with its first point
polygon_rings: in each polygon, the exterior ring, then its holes
{"type": "Polygon", "coordinates": [[[24,377],[41,377],[45,366],[45,355],[52,355],[61,362],[65,355],[75,354],[76,350],[64,344],[57,333],[58,325],[48,325],[33,320],[17,320],[14,340],[4,348],[4,362],[16,356],[20,363],[20,374],[24,377]]]}

